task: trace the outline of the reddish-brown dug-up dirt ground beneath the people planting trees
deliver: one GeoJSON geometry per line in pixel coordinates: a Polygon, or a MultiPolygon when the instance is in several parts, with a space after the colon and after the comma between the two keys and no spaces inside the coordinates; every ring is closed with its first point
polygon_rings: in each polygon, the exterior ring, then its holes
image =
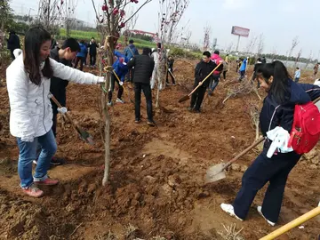
{"type": "MultiPolygon", "coordinates": [[[[225,228],[241,230],[235,239],[259,239],[276,228],[269,227],[255,207],[256,197],[244,222],[220,210],[231,203],[241,186],[246,166],[258,155],[252,151],[228,171],[228,178],[204,184],[206,169],[228,161],[255,137],[246,114],[252,93],[233,98],[223,106],[227,89],[236,83],[236,72],[228,72],[212,97],[204,99],[203,113],[178,103],[192,89],[195,61],[176,60],[177,85],[160,94],[155,109],[157,127],[148,127],[146,103],[142,98],[142,122],[134,124],[134,108],[116,103],[111,115],[111,165],[108,186],[101,180],[104,162],[96,85],[69,84],[68,109],[95,145],[84,143],[70,124],[58,126],[57,156],[68,164],[50,171],[60,184],[44,188],[45,196],[22,195],[17,174],[18,148],[9,132],[9,102],[5,84],[0,87],[0,239],[234,239],[225,228]]],[[[86,70],[90,70],[87,69],[86,70]]],[[[249,71],[249,76],[252,71],[249,71]]],[[[0,69],[0,78],[5,75],[0,69]]],[[[302,73],[303,75],[303,73],[302,73]]],[[[311,82],[311,77],[302,79],[311,82]]],[[[260,92],[263,96],[263,92],[260,92]]],[[[131,91],[133,96],[133,92],[131,91]]],[[[114,93],[114,99],[116,93],[114,93]]],[[[317,151],[303,158],[290,174],[277,226],[282,226],[316,207],[320,198],[317,151]]],[[[294,228],[278,239],[317,239],[320,217],[294,228]]]]}

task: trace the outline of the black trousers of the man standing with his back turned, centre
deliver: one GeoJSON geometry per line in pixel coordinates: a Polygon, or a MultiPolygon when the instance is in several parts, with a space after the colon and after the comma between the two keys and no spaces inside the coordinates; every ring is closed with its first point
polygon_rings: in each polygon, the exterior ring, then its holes
{"type": "Polygon", "coordinates": [[[148,121],[153,122],[150,84],[134,83],[135,118],[136,120],[140,120],[141,90],[143,91],[147,101],[148,121]]]}

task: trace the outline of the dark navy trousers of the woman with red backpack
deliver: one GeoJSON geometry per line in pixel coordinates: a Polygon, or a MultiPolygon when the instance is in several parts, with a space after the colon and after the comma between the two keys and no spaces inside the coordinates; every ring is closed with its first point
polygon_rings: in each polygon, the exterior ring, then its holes
{"type": "Polygon", "coordinates": [[[268,182],[262,213],[272,222],[278,220],[288,175],[300,159],[300,155],[295,152],[278,153],[268,158],[267,151],[264,150],[244,172],[242,187],[236,195],[233,206],[236,216],[243,220],[257,192],[268,182]]]}

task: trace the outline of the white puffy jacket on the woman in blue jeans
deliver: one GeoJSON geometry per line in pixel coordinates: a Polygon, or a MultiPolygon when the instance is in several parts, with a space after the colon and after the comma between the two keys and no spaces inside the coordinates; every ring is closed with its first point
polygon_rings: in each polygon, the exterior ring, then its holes
{"type": "MultiPolygon", "coordinates": [[[[78,84],[98,83],[98,76],[75,68],[68,68],[52,59],[50,59],[50,64],[53,76],[78,84]]],[[[22,54],[6,69],[12,136],[36,138],[51,130],[50,81],[51,79],[42,76],[40,85],[33,84],[25,71],[22,54]]]]}

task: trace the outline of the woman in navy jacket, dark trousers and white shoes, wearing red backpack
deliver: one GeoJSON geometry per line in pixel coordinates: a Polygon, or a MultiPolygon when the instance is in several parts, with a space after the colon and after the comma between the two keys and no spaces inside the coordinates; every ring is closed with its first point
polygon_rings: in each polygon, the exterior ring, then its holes
{"type": "MultiPolygon", "coordinates": [[[[313,91],[320,89],[318,86],[294,83],[281,61],[262,64],[257,69],[257,78],[260,87],[268,92],[260,112],[260,130],[263,136],[267,136],[267,132],[276,126],[291,132],[295,105],[305,104],[320,96],[320,91],[313,91]]],[[[271,140],[265,140],[262,152],[244,172],[242,187],[234,203],[220,205],[224,212],[237,220],[245,219],[257,192],[267,183],[269,185],[262,206],[258,206],[257,210],[271,226],[278,220],[286,180],[300,155],[294,151],[277,152],[268,158],[271,143],[271,140]]]]}

